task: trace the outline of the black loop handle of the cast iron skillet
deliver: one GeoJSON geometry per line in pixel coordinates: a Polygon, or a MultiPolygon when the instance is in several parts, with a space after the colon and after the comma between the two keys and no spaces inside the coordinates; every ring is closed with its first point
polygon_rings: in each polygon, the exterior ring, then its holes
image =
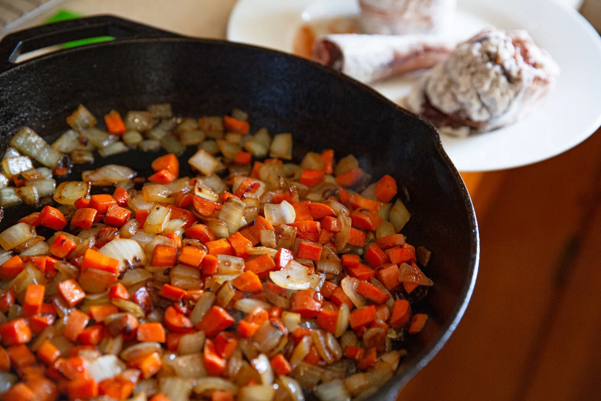
{"type": "Polygon", "coordinates": [[[72,19],[18,31],[0,40],[0,73],[18,65],[21,54],[73,40],[112,36],[117,39],[181,37],[111,15],[72,19]]]}

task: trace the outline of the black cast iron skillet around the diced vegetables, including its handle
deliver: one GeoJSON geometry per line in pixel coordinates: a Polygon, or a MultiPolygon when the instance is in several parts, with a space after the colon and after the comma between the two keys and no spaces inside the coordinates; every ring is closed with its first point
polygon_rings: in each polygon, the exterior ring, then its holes
{"type": "MultiPolygon", "coordinates": [[[[425,269],[435,282],[415,311],[431,318],[403,344],[409,354],[373,399],[398,391],[443,346],[465,311],[478,268],[478,227],[468,191],[432,124],[368,87],[311,61],[253,46],[181,37],[112,16],[90,17],[17,32],[0,42],[0,149],[20,127],[53,140],[81,103],[97,116],[171,102],[182,116],[247,111],[254,132],[294,134],[294,158],[335,149],[354,154],[374,177],[400,184],[412,217],[410,243],[432,250],[425,269]],[[15,64],[25,52],[96,36],[113,42],[58,51],[15,64]]],[[[102,120],[102,118],[101,118],[102,120]]],[[[147,173],[158,154],[130,151],[102,159],[147,173]]],[[[186,155],[182,166],[187,166],[186,155]]],[[[91,166],[83,166],[90,169],[91,166]]],[[[186,173],[185,171],[183,174],[186,173]]],[[[79,179],[76,177],[74,179],[79,179]]],[[[27,211],[28,212],[28,211],[27,211]]],[[[26,213],[5,210],[0,230],[26,213]]]]}

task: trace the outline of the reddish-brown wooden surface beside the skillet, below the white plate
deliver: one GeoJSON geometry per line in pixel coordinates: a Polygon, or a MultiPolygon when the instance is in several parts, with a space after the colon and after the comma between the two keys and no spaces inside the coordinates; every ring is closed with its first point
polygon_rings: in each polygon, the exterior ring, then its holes
{"type": "Polygon", "coordinates": [[[399,401],[601,399],[601,132],[464,178],[481,235],[474,295],[399,401]]]}

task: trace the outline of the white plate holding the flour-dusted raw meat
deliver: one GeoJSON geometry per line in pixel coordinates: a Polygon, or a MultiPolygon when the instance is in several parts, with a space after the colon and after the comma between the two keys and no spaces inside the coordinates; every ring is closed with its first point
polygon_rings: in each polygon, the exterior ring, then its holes
{"type": "MultiPolygon", "coordinates": [[[[354,17],[356,0],[239,0],[228,23],[233,42],[291,52],[303,23],[354,17]]],[[[462,172],[508,169],[545,160],[589,137],[601,125],[601,39],[578,12],[549,0],[458,0],[453,34],[468,37],[487,25],[527,30],[561,67],[557,87],[531,115],[507,128],[468,138],[443,136],[462,172]]],[[[413,78],[374,84],[393,101],[413,78]]]]}

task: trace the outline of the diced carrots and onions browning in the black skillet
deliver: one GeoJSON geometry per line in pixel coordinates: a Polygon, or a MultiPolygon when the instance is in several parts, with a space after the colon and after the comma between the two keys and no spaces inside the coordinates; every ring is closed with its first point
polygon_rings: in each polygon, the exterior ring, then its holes
{"type": "Polygon", "coordinates": [[[433,285],[394,178],[368,185],[332,150],[292,164],[292,135],[251,135],[241,110],[104,122],[80,105],[52,145],[25,127],[2,160],[0,206],[39,207],[0,234],[2,400],[346,401],[392,377],[433,285]],[[198,176],[180,176],[193,145],[198,176]],[[108,164],[56,185],[96,148],[167,154],[148,178],[108,164]]]}

